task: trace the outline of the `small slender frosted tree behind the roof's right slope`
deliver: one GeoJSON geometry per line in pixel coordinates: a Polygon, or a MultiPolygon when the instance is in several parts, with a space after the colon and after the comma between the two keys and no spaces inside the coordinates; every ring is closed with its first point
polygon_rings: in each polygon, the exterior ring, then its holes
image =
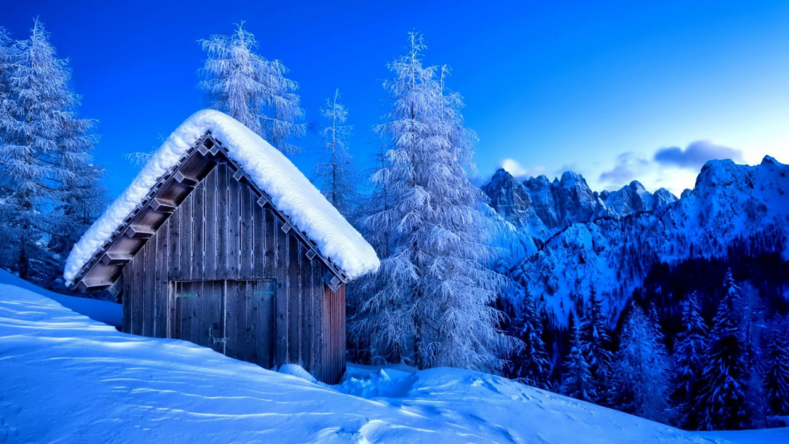
{"type": "Polygon", "coordinates": [[[316,164],[316,181],[320,192],[342,216],[348,218],[357,205],[357,180],[348,152],[347,139],[353,126],[346,125],[348,110],[339,103],[340,91],[326,100],[320,114],[326,124],[320,130],[323,152],[316,164]]]}

